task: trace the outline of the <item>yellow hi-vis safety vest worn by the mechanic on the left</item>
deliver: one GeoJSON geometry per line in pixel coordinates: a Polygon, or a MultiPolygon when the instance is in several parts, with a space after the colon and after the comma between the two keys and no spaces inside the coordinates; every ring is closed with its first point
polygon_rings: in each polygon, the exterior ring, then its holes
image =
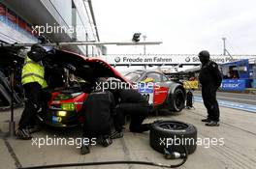
{"type": "Polygon", "coordinates": [[[42,88],[48,87],[47,81],[45,80],[45,68],[32,61],[28,56],[25,58],[25,62],[21,73],[22,85],[31,82],[38,82],[42,88]]]}

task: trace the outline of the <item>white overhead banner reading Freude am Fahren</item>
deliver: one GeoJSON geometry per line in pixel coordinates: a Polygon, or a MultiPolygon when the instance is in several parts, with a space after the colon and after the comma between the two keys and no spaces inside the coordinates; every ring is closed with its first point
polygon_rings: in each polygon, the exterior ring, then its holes
{"type": "MultiPolygon", "coordinates": [[[[235,62],[241,59],[256,58],[255,56],[246,55],[212,55],[211,60],[223,64],[227,62],[235,62]]],[[[107,55],[103,57],[109,64],[122,65],[122,64],[200,64],[200,60],[197,55],[107,55]]]]}

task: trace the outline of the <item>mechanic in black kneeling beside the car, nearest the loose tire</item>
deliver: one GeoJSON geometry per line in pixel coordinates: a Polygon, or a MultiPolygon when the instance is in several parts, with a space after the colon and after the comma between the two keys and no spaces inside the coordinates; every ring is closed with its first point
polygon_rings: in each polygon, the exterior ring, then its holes
{"type": "Polygon", "coordinates": [[[118,101],[115,107],[116,115],[113,119],[114,127],[118,133],[122,132],[125,115],[131,116],[129,127],[131,132],[141,133],[150,129],[149,124],[143,124],[144,119],[149,114],[150,106],[142,94],[134,89],[122,88],[114,90],[113,96],[118,101]]]}

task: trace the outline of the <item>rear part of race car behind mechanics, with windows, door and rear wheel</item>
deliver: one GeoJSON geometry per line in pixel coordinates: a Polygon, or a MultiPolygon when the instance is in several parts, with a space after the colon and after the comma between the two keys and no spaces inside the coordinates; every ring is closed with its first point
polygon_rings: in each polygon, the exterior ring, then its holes
{"type": "Polygon", "coordinates": [[[168,109],[179,112],[185,106],[186,91],[182,83],[172,81],[164,73],[156,70],[131,70],[125,78],[136,84],[155,110],[168,109]]]}

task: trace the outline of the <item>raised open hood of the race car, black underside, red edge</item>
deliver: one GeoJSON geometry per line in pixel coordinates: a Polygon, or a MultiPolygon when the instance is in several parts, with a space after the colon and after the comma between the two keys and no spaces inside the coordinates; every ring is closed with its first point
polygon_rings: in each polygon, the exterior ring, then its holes
{"type": "Polygon", "coordinates": [[[75,68],[74,74],[86,81],[95,80],[98,77],[116,77],[121,81],[126,81],[117,70],[99,58],[88,58],[66,50],[54,50],[54,54],[47,56],[51,64],[67,69],[71,66],[75,68]]]}

